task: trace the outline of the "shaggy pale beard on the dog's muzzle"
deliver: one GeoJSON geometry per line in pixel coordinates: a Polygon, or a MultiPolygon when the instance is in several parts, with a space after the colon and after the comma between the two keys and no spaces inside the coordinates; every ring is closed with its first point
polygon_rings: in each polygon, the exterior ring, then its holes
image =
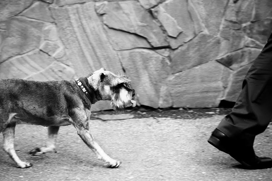
{"type": "Polygon", "coordinates": [[[132,94],[124,88],[120,89],[119,93],[114,93],[112,96],[111,106],[118,113],[124,112],[124,108],[131,106],[132,94]]]}

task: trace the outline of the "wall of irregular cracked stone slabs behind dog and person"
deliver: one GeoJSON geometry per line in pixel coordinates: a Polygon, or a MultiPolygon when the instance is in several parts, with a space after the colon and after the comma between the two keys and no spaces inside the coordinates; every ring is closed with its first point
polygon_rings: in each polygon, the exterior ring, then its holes
{"type": "MultiPolygon", "coordinates": [[[[272,30],[270,0],[1,0],[0,78],[132,78],[139,105],[235,101],[272,30]]],[[[110,109],[107,101],[93,110],[110,109]]]]}

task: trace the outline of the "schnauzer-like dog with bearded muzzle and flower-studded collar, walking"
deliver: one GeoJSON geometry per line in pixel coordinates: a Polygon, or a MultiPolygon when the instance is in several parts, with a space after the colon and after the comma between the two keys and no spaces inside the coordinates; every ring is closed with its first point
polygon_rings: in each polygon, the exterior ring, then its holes
{"type": "Polygon", "coordinates": [[[108,167],[117,168],[120,161],[109,157],[97,144],[89,131],[91,105],[99,100],[111,100],[112,108],[123,112],[125,107],[136,106],[131,79],[115,75],[101,68],[75,81],[30,81],[0,79],[0,133],[4,151],[19,168],[32,164],[21,161],[14,150],[16,124],[48,126],[46,147],[34,148],[32,155],[55,149],[60,126],[73,125],[77,134],[108,167]]]}

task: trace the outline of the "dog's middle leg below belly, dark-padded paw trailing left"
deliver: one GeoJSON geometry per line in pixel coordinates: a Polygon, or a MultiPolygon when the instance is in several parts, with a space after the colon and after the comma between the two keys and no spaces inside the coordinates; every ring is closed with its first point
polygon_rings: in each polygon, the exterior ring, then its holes
{"type": "Polygon", "coordinates": [[[29,154],[31,155],[41,155],[48,151],[54,151],[56,148],[56,142],[57,142],[57,135],[59,131],[60,126],[48,126],[48,138],[46,147],[41,148],[34,148],[32,149],[29,154]]]}

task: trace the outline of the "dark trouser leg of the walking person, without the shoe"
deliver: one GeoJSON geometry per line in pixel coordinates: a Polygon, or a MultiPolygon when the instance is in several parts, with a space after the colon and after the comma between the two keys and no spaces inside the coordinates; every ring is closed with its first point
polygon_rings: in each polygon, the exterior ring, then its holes
{"type": "Polygon", "coordinates": [[[272,118],[272,34],[249,69],[242,91],[217,129],[230,138],[253,146],[257,134],[264,132],[272,118]]]}

